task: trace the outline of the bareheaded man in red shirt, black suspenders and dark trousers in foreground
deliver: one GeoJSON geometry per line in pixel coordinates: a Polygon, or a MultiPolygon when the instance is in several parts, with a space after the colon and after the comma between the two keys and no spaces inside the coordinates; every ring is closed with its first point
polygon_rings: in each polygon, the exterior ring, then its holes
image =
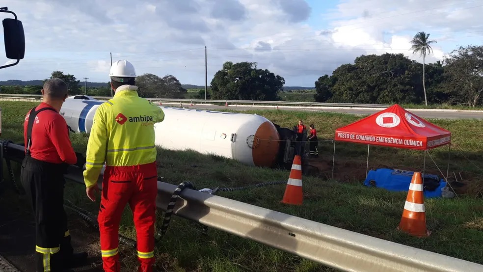
{"type": "Polygon", "coordinates": [[[67,123],[58,113],[67,98],[67,84],[50,79],[41,92],[42,103],[25,117],[26,156],[20,177],[35,215],[35,269],[72,271],[68,269],[83,263],[87,253],[73,253],[63,206],[63,174],[81,156],[74,152],[67,123]]]}

